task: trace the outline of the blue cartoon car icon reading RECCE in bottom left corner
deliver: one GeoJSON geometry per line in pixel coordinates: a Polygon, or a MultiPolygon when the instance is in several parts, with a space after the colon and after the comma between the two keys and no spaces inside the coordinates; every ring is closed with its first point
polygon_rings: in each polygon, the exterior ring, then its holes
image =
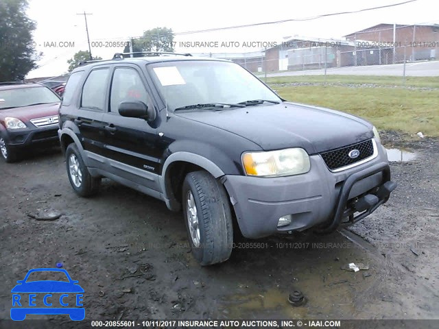
{"type": "MultiPolygon", "coordinates": [[[[49,273],[49,275],[51,274],[49,273]]],[[[35,275],[34,275],[35,276],[35,275]]],[[[72,280],[69,273],[65,269],[31,269],[27,272],[23,280],[17,281],[17,285],[12,288],[12,308],[11,319],[15,321],[22,321],[28,314],[38,315],[63,315],[68,314],[73,321],[81,321],[85,317],[85,309],[82,306],[82,293],[84,289],[80,287],[78,281],[72,280]],[[58,276],[67,280],[37,280],[29,281],[29,276],[35,272],[58,272],[58,276]],[[61,273],[59,273],[61,272],[61,273]],[[62,274],[64,273],[64,275],[62,274]],[[29,294],[27,296],[23,295],[29,294]],[[60,294],[61,293],[61,294],[60,294]],[[43,302],[47,307],[36,307],[36,300],[38,294],[38,302],[43,302]],[[58,297],[59,295],[59,297],[58,297]],[[69,297],[70,295],[70,297],[69,297]],[[42,297],[42,300],[41,300],[42,297]],[[75,297],[76,307],[71,307],[72,303],[69,301],[75,297]],[[58,307],[59,304],[59,307],[58,307]]]]}

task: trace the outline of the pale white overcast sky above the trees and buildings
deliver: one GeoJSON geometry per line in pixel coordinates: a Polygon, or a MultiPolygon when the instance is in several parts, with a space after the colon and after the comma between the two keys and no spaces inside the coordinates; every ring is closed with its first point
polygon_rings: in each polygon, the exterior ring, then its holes
{"type": "MultiPolygon", "coordinates": [[[[34,32],[36,50],[43,52],[40,67],[31,71],[30,77],[47,77],[67,72],[67,60],[79,50],[87,50],[84,16],[92,42],[104,42],[102,47],[92,47],[93,56],[111,58],[123,47],[104,47],[108,41],[126,41],[130,36],[141,36],[146,29],[172,28],[174,32],[187,32],[216,27],[246,25],[304,19],[320,14],[360,10],[404,0],[311,0],[311,1],[144,1],[144,0],[29,0],[27,14],[36,21],[34,32]],[[60,47],[60,42],[70,42],[74,47],[60,47]],[[49,47],[49,45],[51,47],[49,47]]],[[[417,0],[399,5],[356,14],[344,14],[306,22],[288,22],[259,27],[245,27],[221,32],[204,32],[176,36],[175,41],[231,41],[281,42],[285,36],[313,38],[341,38],[346,34],[379,23],[416,24],[439,23],[439,1],[417,0]]],[[[428,40],[426,40],[428,41],[428,40]]],[[[214,47],[211,49],[181,49],[193,53],[233,53],[257,51],[248,47],[214,47]]]]}

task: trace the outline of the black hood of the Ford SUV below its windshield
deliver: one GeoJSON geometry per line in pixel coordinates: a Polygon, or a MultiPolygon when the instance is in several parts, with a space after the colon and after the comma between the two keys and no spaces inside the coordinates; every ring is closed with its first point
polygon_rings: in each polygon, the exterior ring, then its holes
{"type": "Polygon", "coordinates": [[[247,138],[264,150],[302,147],[316,154],[373,137],[372,125],[363,119],[298,103],[175,114],[247,138]]]}

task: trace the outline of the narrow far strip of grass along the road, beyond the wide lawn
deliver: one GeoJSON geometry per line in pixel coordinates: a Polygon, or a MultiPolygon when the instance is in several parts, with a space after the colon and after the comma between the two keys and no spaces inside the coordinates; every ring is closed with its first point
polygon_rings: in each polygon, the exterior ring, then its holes
{"type": "MultiPolygon", "coordinates": [[[[265,82],[264,77],[259,77],[265,82]]],[[[298,75],[291,77],[268,77],[268,84],[285,84],[289,82],[313,82],[328,84],[377,84],[379,86],[404,86],[403,77],[368,76],[368,75],[298,75]]],[[[405,77],[405,86],[439,88],[439,77],[405,77]]]]}

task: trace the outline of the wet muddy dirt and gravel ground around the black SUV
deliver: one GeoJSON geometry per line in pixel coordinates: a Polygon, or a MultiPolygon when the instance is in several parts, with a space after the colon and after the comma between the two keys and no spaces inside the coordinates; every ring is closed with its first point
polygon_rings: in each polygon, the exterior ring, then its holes
{"type": "Polygon", "coordinates": [[[392,162],[388,204],[329,236],[240,241],[212,267],[195,263],[182,214],[163,202],[110,180],[75,195],[59,149],[0,162],[0,319],[16,280],[59,262],[85,291],[86,319],[438,319],[439,140],[383,139],[417,154],[392,162]],[[45,209],[62,216],[28,217],[45,209]],[[288,304],[294,290],[305,305],[288,304]]]}

